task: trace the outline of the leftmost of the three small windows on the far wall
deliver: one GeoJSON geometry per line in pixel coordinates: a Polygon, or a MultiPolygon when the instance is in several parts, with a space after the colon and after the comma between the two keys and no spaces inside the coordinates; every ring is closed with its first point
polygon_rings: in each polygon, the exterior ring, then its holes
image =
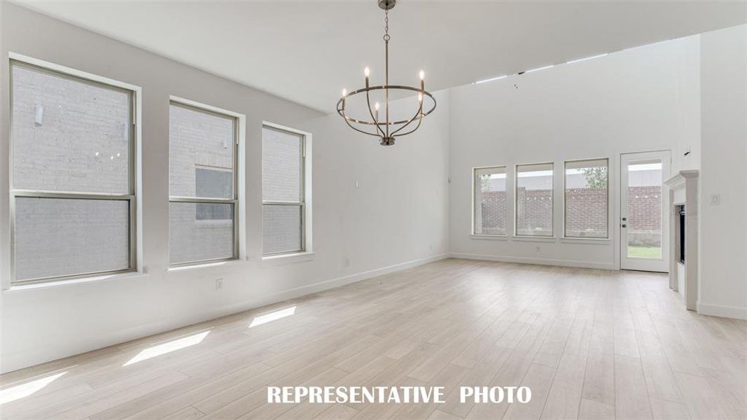
{"type": "Polygon", "coordinates": [[[506,235],[506,167],[476,167],[474,188],[474,235],[506,235]]]}

